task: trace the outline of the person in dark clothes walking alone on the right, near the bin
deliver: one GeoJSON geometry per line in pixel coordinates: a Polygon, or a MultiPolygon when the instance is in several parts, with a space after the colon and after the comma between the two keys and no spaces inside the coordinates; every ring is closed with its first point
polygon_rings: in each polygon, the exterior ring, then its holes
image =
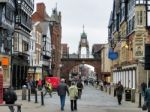
{"type": "Polygon", "coordinates": [[[119,105],[121,105],[122,94],[123,94],[123,86],[122,86],[121,82],[119,81],[117,84],[117,87],[116,87],[116,96],[117,96],[119,105]]]}

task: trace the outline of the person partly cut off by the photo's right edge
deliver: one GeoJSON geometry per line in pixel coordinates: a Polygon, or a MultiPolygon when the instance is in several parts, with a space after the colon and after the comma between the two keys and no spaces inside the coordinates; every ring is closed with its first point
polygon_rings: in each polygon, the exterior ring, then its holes
{"type": "Polygon", "coordinates": [[[148,87],[145,91],[144,103],[147,106],[147,112],[150,112],[150,87],[148,87]]]}

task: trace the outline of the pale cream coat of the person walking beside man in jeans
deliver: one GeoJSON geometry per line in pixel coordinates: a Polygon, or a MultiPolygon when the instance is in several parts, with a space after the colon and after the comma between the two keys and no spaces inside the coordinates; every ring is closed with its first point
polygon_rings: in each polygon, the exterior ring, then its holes
{"type": "Polygon", "coordinates": [[[70,100],[76,100],[75,96],[78,96],[78,88],[75,85],[71,85],[69,87],[69,97],[70,97],[70,100]]]}

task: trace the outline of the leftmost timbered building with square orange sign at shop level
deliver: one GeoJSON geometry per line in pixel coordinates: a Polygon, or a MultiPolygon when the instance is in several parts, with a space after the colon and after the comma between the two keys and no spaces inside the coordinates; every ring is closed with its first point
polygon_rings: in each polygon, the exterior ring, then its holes
{"type": "Polygon", "coordinates": [[[0,66],[4,71],[4,88],[11,83],[11,54],[15,25],[15,0],[0,1],[0,66]]]}

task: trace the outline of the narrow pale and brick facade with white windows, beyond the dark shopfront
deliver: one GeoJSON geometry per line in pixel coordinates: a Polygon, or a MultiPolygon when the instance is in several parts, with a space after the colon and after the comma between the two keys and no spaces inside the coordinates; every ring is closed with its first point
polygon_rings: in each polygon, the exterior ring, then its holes
{"type": "Polygon", "coordinates": [[[28,78],[42,79],[42,28],[40,22],[33,23],[30,38],[30,67],[28,69],[28,78]]]}

